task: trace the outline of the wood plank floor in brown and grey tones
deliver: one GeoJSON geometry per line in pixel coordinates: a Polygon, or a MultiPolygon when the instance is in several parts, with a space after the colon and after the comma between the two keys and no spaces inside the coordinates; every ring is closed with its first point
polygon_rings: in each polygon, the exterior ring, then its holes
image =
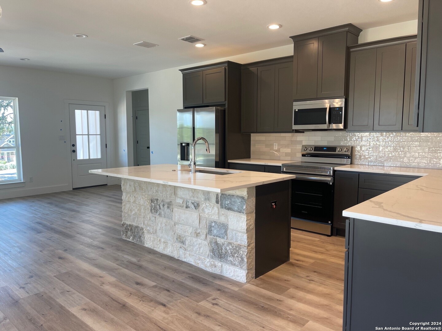
{"type": "Polygon", "coordinates": [[[121,239],[118,185],[0,200],[0,331],[342,330],[344,239],[247,285],[121,239]]]}

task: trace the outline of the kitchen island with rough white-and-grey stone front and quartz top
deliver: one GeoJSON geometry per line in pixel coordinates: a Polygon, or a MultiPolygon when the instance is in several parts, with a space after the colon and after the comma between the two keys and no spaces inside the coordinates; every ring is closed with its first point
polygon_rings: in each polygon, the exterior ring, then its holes
{"type": "Polygon", "coordinates": [[[179,165],[90,170],[122,178],[122,237],[240,282],[290,260],[292,175],[179,165]]]}

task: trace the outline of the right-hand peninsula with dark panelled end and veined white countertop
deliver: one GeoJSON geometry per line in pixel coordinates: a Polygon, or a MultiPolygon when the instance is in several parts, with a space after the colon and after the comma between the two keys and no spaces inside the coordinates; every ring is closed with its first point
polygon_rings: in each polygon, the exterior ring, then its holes
{"type": "Polygon", "coordinates": [[[420,325],[438,330],[442,170],[373,165],[338,169],[422,176],[343,211],[348,217],[343,329],[410,330],[420,325]],[[434,324],[411,324],[419,322],[434,324]]]}

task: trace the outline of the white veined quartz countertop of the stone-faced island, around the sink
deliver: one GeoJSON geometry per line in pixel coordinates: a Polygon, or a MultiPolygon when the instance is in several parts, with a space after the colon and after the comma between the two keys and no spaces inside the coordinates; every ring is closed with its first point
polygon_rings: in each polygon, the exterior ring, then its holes
{"type": "MultiPolygon", "coordinates": [[[[215,168],[197,167],[197,169],[216,170],[215,168]]],[[[279,173],[260,173],[256,171],[239,171],[223,169],[228,175],[216,175],[210,173],[190,173],[187,166],[160,164],[141,165],[137,167],[124,167],[112,169],[89,170],[90,173],[148,181],[152,183],[166,184],[185,188],[211,192],[227,192],[239,188],[248,188],[263,184],[286,181],[295,178],[293,175],[279,173]]]]}

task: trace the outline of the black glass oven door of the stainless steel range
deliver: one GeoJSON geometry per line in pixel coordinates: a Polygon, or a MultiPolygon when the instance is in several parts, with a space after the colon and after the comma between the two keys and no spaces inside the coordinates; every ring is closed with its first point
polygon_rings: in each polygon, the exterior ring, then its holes
{"type": "Polygon", "coordinates": [[[292,180],[292,217],[331,225],[333,177],[296,174],[292,180]]]}

